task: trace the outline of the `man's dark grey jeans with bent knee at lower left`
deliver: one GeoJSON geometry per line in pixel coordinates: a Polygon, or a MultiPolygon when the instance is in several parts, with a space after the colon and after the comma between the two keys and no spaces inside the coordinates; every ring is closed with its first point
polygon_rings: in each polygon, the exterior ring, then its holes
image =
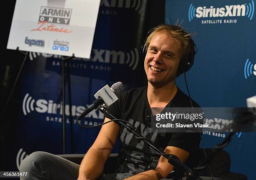
{"type": "MultiPolygon", "coordinates": [[[[33,152],[20,164],[20,172],[28,172],[20,180],[77,180],[79,165],[48,152],[33,152]]],[[[123,180],[131,173],[102,175],[97,180],[123,180]]]]}

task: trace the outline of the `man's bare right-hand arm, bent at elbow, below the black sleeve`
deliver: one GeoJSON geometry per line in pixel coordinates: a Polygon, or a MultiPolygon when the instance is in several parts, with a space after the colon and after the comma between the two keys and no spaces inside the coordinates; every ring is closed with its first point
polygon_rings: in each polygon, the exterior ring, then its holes
{"type": "MultiPolygon", "coordinates": [[[[176,155],[181,162],[185,162],[189,157],[189,152],[180,149],[179,147],[168,146],[164,150],[167,154],[176,155]]],[[[125,180],[160,180],[166,178],[173,170],[173,166],[169,164],[168,160],[161,156],[157,163],[156,169],[141,172],[137,175],[131,176],[125,180]]]]}

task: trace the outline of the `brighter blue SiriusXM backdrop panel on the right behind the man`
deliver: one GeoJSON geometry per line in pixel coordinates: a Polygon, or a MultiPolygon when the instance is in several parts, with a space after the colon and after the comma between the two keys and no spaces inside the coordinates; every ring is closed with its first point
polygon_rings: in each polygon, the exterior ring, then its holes
{"type": "MultiPolygon", "coordinates": [[[[198,53],[187,73],[192,98],[202,107],[245,107],[256,95],[256,48],[253,0],[166,0],[166,19],[177,20],[194,36],[198,53]]],[[[167,23],[167,21],[166,21],[167,23]]],[[[177,82],[184,92],[183,76],[177,82]]],[[[222,122],[216,122],[221,124],[222,122]]],[[[219,137],[204,134],[206,147],[219,137]]],[[[225,148],[231,171],[256,179],[256,133],[238,133],[225,148]]]]}

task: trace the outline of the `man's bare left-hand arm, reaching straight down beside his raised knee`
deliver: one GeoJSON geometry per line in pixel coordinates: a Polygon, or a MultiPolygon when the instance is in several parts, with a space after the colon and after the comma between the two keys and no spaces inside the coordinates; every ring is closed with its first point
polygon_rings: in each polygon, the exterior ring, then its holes
{"type": "MultiPolygon", "coordinates": [[[[109,120],[105,118],[104,122],[109,120]]],[[[105,162],[115,146],[119,130],[120,127],[115,122],[102,126],[95,142],[81,162],[78,180],[95,180],[102,174],[105,162]]]]}

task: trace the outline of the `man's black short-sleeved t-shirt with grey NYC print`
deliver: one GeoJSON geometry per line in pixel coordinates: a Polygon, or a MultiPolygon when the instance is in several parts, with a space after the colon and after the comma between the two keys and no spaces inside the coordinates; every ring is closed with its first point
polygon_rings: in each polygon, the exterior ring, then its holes
{"type": "MultiPolygon", "coordinates": [[[[179,147],[190,153],[186,164],[193,167],[197,164],[197,152],[199,150],[199,133],[158,133],[151,128],[151,109],[147,98],[147,86],[131,89],[118,95],[118,101],[108,107],[108,112],[117,119],[130,122],[136,128],[136,132],[143,137],[151,139],[156,147],[165,150],[167,146],[179,147]],[[149,118],[148,118],[149,117],[149,118]]],[[[192,100],[193,107],[200,107],[192,100]]],[[[166,107],[191,107],[189,97],[178,89],[176,95],[166,107]]],[[[105,114],[105,117],[113,119],[105,114]]],[[[159,155],[148,144],[137,139],[124,127],[120,127],[119,162],[116,172],[140,172],[156,168],[159,155]]]]}

